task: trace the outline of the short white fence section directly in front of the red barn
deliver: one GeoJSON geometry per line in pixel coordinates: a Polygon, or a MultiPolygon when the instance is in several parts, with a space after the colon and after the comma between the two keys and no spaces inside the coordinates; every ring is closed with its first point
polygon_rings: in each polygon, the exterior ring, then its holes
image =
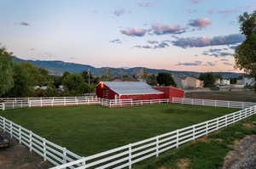
{"type": "Polygon", "coordinates": [[[102,105],[108,107],[123,107],[135,105],[149,104],[168,104],[170,99],[148,99],[148,100],[133,100],[133,99],[102,99],[102,105]]]}

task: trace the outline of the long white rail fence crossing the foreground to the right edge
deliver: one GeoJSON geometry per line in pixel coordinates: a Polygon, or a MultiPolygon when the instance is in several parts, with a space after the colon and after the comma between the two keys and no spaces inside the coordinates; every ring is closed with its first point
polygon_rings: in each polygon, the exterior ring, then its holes
{"type": "Polygon", "coordinates": [[[201,136],[207,135],[208,133],[214,132],[222,127],[227,127],[236,121],[241,121],[242,119],[254,114],[256,114],[256,106],[239,110],[229,115],[223,115],[210,121],[177,129],[173,132],[167,132],[134,144],[127,144],[96,155],[83,157],[78,161],[72,161],[61,166],[55,166],[51,169],[64,169],[70,166],[73,166],[76,169],[131,169],[131,166],[139,161],[143,161],[153,156],[157,157],[160,153],[165,152],[168,149],[177,148],[181,144],[195,140],[195,138],[200,138],[201,136]]]}

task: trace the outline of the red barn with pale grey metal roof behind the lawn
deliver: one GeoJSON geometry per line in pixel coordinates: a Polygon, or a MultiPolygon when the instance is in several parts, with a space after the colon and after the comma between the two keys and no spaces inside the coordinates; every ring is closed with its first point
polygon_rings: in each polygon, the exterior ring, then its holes
{"type": "MultiPolygon", "coordinates": [[[[172,98],[171,89],[167,88],[151,87],[145,82],[99,82],[96,86],[96,95],[102,99],[169,99],[172,98]]],[[[174,90],[175,88],[172,89],[173,94],[174,90]]],[[[175,95],[178,96],[177,93],[175,95]]]]}

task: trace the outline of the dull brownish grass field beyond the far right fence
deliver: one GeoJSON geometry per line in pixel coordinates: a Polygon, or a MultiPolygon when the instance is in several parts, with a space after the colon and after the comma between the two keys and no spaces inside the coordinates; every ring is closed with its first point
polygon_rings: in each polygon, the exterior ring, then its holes
{"type": "Polygon", "coordinates": [[[200,93],[186,93],[186,98],[196,99],[220,99],[241,102],[256,102],[256,93],[253,91],[242,92],[200,92],[200,93]]]}

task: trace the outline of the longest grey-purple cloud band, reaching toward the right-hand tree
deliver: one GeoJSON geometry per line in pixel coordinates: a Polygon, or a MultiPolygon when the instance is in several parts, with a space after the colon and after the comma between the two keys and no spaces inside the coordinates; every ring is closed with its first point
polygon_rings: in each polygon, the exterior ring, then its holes
{"type": "Polygon", "coordinates": [[[245,37],[241,34],[230,34],[218,37],[176,37],[172,44],[181,48],[201,48],[218,45],[231,45],[243,42],[245,37]]]}

